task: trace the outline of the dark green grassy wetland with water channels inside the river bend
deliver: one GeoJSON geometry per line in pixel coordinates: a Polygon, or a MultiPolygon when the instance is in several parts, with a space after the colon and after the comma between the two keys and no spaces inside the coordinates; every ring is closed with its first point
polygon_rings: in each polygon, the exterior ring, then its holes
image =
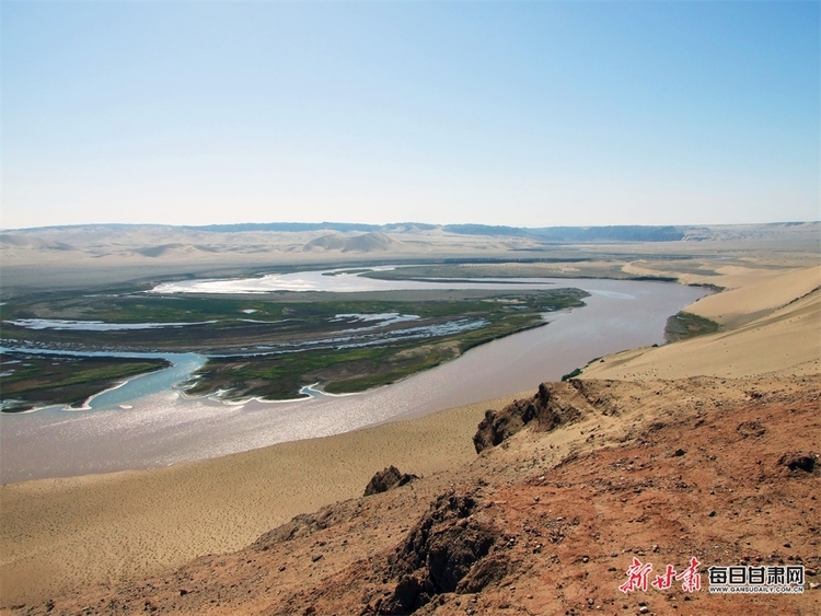
{"type": "MultiPolygon", "coordinates": [[[[5,302],[0,337],[7,348],[194,351],[208,361],[195,373],[189,394],[287,399],[316,383],[328,393],[349,393],[395,382],[477,345],[544,325],[545,313],[583,305],[586,295],[578,289],[555,288],[219,297],[135,290],[32,294],[5,302]]],[[[51,359],[32,361],[45,365],[51,359]]],[[[71,364],[60,360],[89,385],[85,397],[112,381],[158,368],[153,362],[88,359],[71,364]],[[102,367],[111,374],[94,381],[102,367]],[[126,372],[115,375],[117,370],[126,372]]],[[[74,390],[68,395],[66,377],[66,370],[41,371],[32,385],[39,392],[38,404],[81,402],[74,390]]],[[[28,381],[18,370],[3,369],[3,399],[20,399],[12,392],[21,382],[28,381]]]]}

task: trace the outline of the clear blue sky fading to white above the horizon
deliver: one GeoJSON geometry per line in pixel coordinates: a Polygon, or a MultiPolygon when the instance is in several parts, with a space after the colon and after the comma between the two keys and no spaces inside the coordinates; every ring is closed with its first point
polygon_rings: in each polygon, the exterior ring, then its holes
{"type": "Polygon", "coordinates": [[[2,2],[0,226],[821,219],[821,3],[2,2]]]}

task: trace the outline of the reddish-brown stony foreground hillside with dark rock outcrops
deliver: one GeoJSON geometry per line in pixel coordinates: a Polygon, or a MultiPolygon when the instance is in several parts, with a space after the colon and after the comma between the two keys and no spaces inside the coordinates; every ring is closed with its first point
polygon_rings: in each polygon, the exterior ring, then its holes
{"type": "Polygon", "coordinates": [[[10,612],[819,614],[819,376],[546,383],[483,420],[463,467],[10,612]],[[620,590],[634,559],[651,582],[693,558],[698,591],[620,590]],[[803,566],[807,589],[707,592],[708,567],[739,565],[803,566]]]}

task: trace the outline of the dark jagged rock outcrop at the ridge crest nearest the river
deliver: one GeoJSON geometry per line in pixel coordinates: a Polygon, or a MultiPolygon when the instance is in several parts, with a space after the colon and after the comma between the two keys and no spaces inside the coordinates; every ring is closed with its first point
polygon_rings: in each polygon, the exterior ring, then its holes
{"type": "Polygon", "coordinates": [[[568,403],[568,397],[573,396],[567,396],[567,392],[556,395],[558,388],[579,392],[576,383],[542,383],[532,398],[514,400],[498,412],[485,411],[485,418],[473,437],[476,453],[498,445],[534,420],[536,429],[545,432],[577,421],[581,417],[578,408],[581,405],[568,403]]]}

